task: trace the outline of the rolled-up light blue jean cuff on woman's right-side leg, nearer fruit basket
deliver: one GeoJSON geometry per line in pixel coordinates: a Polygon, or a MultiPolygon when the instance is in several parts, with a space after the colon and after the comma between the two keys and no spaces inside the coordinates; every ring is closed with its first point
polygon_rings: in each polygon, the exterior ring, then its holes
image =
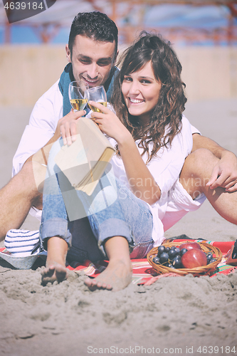
{"type": "Polygon", "coordinates": [[[98,246],[100,251],[106,256],[104,244],[107,239],[114,236],[122,236],[127,239],[130,247],[130,252],[133,249],[134,242],[132,240],[132,233],[125,221],[120,219],[107,219],[100,224],[100,232],[98,236],[98,246]]]}

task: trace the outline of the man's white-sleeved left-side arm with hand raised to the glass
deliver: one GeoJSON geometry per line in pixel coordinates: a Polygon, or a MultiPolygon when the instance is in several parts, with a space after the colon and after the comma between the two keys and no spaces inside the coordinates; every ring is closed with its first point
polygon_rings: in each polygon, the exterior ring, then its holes
{"type": "MultiPolygon", "coordinates": [[[[38,99],[31,112],[31,117],[21,137],[21,142],[14,155],[12,176],[16,175],[23,164],[32,160],[47,164],[48,153],[60,137],[68,122],[75,121],[84,112],[69,112],[63,116],[63,96],[58,88],[58,81],[38,99]],[[78,115],[79,114],[79,115],[78,115]],[[60,126],[63,125],[62,130],[60,126]],[[43,148],[43,150],[41,150],[43,148]]],[[[65,142],[63,142],[65,144],[65,142]]]]}

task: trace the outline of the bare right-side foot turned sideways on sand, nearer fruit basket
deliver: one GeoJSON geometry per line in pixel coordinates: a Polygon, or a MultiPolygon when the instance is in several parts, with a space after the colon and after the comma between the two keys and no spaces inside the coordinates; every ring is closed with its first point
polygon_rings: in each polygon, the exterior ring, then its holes
{"type": "Polygon", "coordinates": [[[105,271],[96,278],[87,278],[85,285],[90,290],[107,289],[117,292],[126,288],[132,281],[132,263],[110,261],[105,271]]]}

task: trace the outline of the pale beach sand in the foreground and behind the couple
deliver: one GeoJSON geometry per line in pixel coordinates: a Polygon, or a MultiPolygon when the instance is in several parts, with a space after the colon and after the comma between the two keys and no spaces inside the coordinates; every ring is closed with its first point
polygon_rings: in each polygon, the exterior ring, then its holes
{"type": "MultiPolygon", "coordinates": [[[[30,112],[0,108],[0,187],[11,177],[11,159],[30,112]]],[[[203,135],[237,154],[236,99],[188,103],[185,115],[203,135]]],[[[28,216],[22,229],[38,225],[28,216]]],[[[166,232],[167,238],[181,234],[235,241],[237,227],[206,201],[166,232]]],[[[237,273],[161,278],[152,286],[130,285],[112,293],[90,292],[85,277],[73,272],[68,281],[43,287],[40,272],[0,262],[0,355],[237,353],[237,273]]]]}

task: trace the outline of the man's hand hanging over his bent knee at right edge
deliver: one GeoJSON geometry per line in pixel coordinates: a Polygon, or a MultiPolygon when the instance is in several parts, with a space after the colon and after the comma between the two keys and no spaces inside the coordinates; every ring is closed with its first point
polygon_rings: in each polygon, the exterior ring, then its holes
{"type": "Polygon", "coordinates": [[[214,167],[206,187],[222,187],[226,192],[237,191],[237,157],[230,151],[224,151],[214,167]]]}

